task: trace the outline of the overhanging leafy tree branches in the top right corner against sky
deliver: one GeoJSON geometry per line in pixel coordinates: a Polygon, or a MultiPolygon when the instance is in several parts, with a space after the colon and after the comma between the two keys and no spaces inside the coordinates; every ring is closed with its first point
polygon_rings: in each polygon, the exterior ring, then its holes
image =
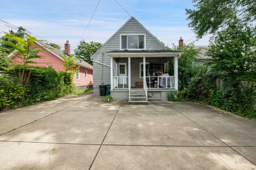
{"type": "Polygon", "coordinates": [[[195,9],[186,9],[186,14],[190,20],[189,27],[198,38],[226,28],[236,20],[243,25],[252,24],[255,28],[255,0],[193,0],[193,3],[195,9]]]}

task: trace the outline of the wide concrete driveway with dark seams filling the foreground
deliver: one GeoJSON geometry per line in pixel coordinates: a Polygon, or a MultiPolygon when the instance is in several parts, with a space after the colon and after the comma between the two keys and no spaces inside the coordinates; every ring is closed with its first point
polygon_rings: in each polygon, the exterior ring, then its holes
{"type": "Polygon", "coordinates": [[[1,169],[256,169],[256,123],[92,92],[0,113],[1,169]]]}

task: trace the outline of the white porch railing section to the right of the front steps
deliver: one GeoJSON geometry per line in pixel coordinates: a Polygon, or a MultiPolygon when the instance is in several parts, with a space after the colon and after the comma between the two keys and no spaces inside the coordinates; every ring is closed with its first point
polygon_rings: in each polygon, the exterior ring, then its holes
{"type": "Polygon", "coordinates": [[[146,76],[146,82],[149,84],[149,87],[148,87],[149,89],[157,89],[157,88],[175,89],[174,76],[159,76],[159,77],[146,76]]]}

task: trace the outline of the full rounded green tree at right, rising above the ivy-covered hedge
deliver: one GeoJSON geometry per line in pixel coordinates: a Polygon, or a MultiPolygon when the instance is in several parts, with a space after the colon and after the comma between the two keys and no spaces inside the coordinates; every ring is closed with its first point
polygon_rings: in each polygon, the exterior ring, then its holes
{"type": "MultiPolygon", "coordinates": [[[[223,74],[234,76],[256,72],[256,33],[248,26],[231,23],[210,40],[211,64],[223,74]]],[[[234,76],[236,77],[236,76],[234,76]]]]}

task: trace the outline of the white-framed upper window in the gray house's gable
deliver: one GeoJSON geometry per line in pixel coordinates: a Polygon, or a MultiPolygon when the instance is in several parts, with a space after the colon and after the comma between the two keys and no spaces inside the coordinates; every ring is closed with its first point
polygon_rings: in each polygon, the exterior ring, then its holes
{"type": "Polygon", "coordinates": [[[145,35],[121,35],[121,50],[122,49],[146,49],[145,35]]]}

